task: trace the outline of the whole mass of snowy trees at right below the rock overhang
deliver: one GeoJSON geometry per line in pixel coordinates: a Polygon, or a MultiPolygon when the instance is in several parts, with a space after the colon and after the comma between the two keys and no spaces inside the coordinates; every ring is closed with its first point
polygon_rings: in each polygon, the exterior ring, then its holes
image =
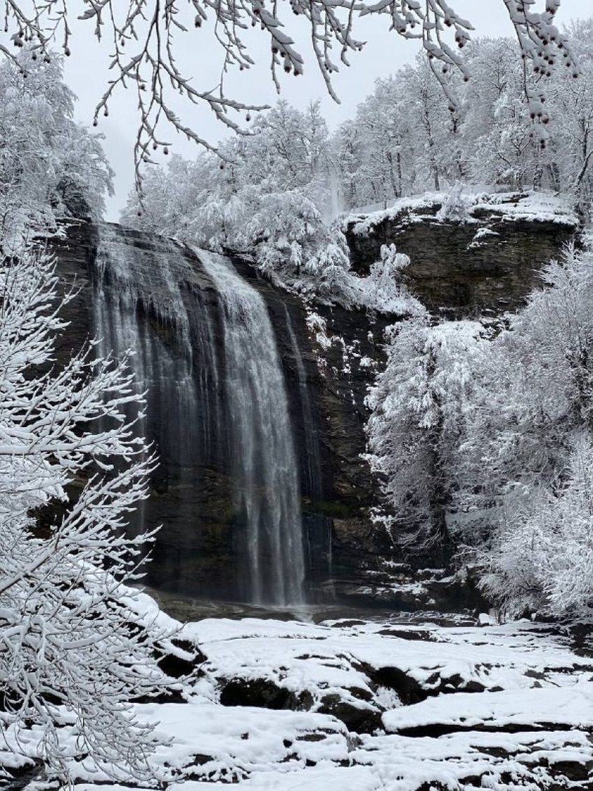
{"type": "Polygon", "coordinates": [[[506,327],[396,325],[368,399],[396,539],[470,551],[513,612],[593,607],[592,265],[568,250],[506,327]]]}

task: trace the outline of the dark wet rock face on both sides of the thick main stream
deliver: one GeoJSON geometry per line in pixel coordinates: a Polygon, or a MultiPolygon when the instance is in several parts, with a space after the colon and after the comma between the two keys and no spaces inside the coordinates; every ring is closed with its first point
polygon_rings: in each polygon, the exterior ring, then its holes
{"type": "MultiPolygon", "coordinates": [[[[96,263],[100,234],[101,229],[92,225],[73,225],[65,240],[55,242],[64,288],[72,284],[77,288],[77,297],[66,308],[70,327],[57,350],[62,361],[86,339],[100,333],[100,299],[107,299],[108,311],[117,309],[121,284],[115,274],[104,273],[101,288],[108,296],[100,294],[96,263]]],[[[156,238],[134,232],[126,232],[126,238],[147,256],[147,262],[151,255],[162,252],[163,243],[156,238]]],[[[217,292],[191,251],[179,250],[179,255],[183,257],[183,269],[173,273],[178,278],[179,293],[186,305],[194,305],[191,309],[212,317],[211,364],[224,372],[224,331],[217,292]]],[[[343,308],[316,308],[328,338],[320,365],[315,332],[300,298],[272,286],[247,260],[233,257],[232,263],[263,296],[274,326],[299,469],[308,598],[339,595],[353,583],[362,583],[366,570],[375,566],[379,555],[387,550],[372,531],[369,509],[376,501],[376,490],[368,465],[361,459],[367,417],[364,395],[374,377],[374,367],[381,363],[380,342],[387,320],[372,320],[363,312],[343,308]]],[[[207,451],[205,446],[198,448],[204,445],[199,438],[191,438],[190,425],[207,422],[210,418],[206,414],[187,416],[185,425],[179,425],[184,422],[178,401],[179,383],[187,366],[186,350],[176,339],[175,327],[159,316],[158,305],[166,305],[170,295],[151,277],[147,271],[145,278],[153,283],[149,301],[134,297],[130,310],[136,313],[134,321],[141,327],[142,338],[153,339],[150,348],[156,344],[161,355],[176,363],[160,366],[155,360],[144,362],[145,376],[152,377],[153,384],[143,430],[157,445],[160,465],[138,519],[148,527],[162,525],[147,582],[183,596],[244,600],[248,596],[245,547],[240,513],[232,496],[229,422],[223,418],[218,430],[210,432],[207,451]],[[158,376],[154,370],[157,367],[158,376]],[[192,447],[182,453],[179,448],[184,443],[192,447]]],[[[197,324],[190,327],[192,343],[197,343],[199,333],[197,324]]],[[[145,350],[140,356],[146,357],[145,350]]],[[[195,366],[199,367],[198,352],[195,366]]],[[[194,370],[193,376],[200,373],[194,370]]],[[[213,387],[210,399],[224,401],[220,384],[213,387]]],[[[221,408],[224,411],[224,403],[221,408]]]]}

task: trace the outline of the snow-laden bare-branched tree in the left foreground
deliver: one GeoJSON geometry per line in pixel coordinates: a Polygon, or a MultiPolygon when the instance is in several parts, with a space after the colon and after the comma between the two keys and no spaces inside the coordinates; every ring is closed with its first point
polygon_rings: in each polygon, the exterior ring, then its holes
{"type": "Polygon", "coordinates": [[[123,586],[150,540],[124,526],[153,460],[125,417],[142,414],[126,360],[89,347],[48,369],[64,329],[57,289],[50,260],[2,260],[0,742],[50,776],[67,779],[74,761],[125,782],[151,776],[155,744],[129,702],[167,681],[166,635],[139,625],[123,586]]]}

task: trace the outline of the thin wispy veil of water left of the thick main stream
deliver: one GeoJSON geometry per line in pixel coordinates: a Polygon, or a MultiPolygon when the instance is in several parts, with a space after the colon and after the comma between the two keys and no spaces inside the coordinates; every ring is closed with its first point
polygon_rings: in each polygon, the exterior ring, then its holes
{"type": "Polygon", "coordinates": [[[130,528],[168,523],[153,549],[148,579],[156,585],[175,580],[180,592],[190,592],[191,579],[178,579],[179,556],[199,548],[187,524],[195,510],[193,492],[201,485],[196,470],[212,464],[219,452],[212,309],[197,284],[190,288],[195,274],[175,244],[117,225],[100,225],[99,233],[96,352],[120,358],[133,351],[134,387],[146,393],[147,402],[135,430],[157,448],[159,467],[151,484],[165,497],[157,505],[142,501],[130,528]]]}

